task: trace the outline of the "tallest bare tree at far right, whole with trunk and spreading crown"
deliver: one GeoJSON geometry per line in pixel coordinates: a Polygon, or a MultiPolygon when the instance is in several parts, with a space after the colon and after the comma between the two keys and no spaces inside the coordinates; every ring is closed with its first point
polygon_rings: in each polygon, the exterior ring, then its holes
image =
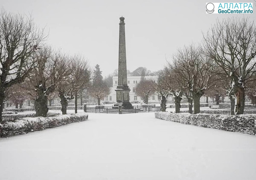
{"type": "Polygon", "coordinates": [[[205,52],[230,77],[235,114],[244,113],[245,86],[256,72],[256,27],[246,18],[217,20],[204,35],[205,52]]]}

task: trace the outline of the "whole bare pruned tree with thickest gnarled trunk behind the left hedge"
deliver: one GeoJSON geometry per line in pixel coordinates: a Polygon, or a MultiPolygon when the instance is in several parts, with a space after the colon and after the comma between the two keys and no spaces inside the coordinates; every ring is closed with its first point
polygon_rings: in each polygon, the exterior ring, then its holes
{"type": "Polygon", "coordinates": [[[60,50],[52,51],[49,46],[33,54],[33,58],[36,62],[36,68],[29,81],[36,92],[36,116],[45,117],[48,112],[47,100],[49,94],[70,73],[70,69],[67,68],[67,57],[60,50]]]}

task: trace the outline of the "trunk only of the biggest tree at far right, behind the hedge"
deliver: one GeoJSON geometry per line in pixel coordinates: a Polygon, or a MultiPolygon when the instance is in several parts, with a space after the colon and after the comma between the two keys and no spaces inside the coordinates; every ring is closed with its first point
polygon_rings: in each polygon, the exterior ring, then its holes
{"type": "Polygon", "coordinates": [[[245,101],[244,88],[238,87],[235,94],[235,106],[236,106],[235,114],[236,115],[244,114],[244,101],[245,101]]]}

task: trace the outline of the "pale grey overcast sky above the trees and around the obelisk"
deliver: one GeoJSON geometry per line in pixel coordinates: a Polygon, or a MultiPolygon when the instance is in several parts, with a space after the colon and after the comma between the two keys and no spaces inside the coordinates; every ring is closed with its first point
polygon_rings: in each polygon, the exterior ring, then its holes
{"type": "MultiPolygon", "coordinates": [[[[206,0],[0,0],[8,12],[32,14],[49,31],[47,42],[83,54],[102,75],[118,68],[119,17],[125,17],[127,69],[163,68],[178,48],[202,40],[216,18],[254,14],[206,14],[206,0]]],[[[211,2],[247,2],[211,1],[211,2]]],[[[253,2],[253,0],[251,0],[253,2]]],[[[254,11],[256,6],[253,5],[254,11]]]]}

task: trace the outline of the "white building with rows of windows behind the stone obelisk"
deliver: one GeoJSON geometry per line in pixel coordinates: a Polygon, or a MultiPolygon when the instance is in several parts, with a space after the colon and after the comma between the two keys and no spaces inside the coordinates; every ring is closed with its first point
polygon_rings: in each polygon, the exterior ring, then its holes
{"type": "MultiPolygon", "coordinates": [[[[140,96],[136,95],[136,85],[140,83],[140,76],[127,76],[127,85],[131,89],[130,91],[130,102],[131,103],[140,103],[143,100],[140,96]]],[[[146,80],[153,80],[157,82],[157,76],[145,76],[146,80]]],[[[118,76],[113,77],[113,87],[111,87],[110,94],[104,98],[102,102],[104,103],[116,103],[116,86],[117,86],[118,76]]],[[[148,97],[148,103],[156,103],[159,102],[157,94],[153,94],[150,97],[148,97]]]]}

